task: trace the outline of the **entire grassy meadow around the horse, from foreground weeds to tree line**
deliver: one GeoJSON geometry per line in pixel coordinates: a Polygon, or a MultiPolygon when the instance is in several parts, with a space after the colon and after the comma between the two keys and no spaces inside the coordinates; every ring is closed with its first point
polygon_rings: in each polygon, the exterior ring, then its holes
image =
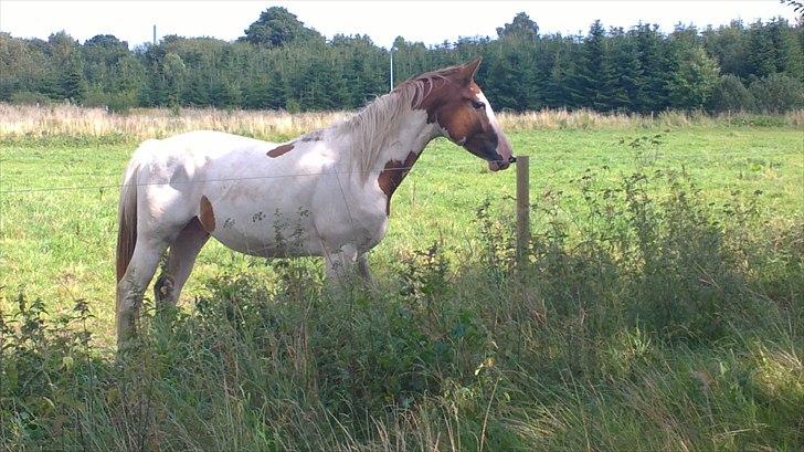
{"type": "Polygon", "coordinates": [[[343,113],[0,106],[0,446],[801,450],[804,113],[503,115],[514,171],[431,144],[342,299],[315,260],[210,243],[116,360],[118,185],[137,143],[282,140],[343,113]],[[30,108],[30,109],[24,109],[30,108]]]}

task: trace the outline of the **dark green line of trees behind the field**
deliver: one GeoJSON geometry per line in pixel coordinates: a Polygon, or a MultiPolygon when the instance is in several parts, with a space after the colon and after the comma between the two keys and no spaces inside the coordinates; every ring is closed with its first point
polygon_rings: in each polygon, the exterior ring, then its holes
{"type": "MultiPolygon", "coordinates": [[[[494,39],[426,46],[399,36],[392,52],[394,83],[483,55],[477,78],[498,109],[804,107],[804,25],[781,18],[669,33],[595,21],[585,35],[562,35],[519,13],[494,39]]],[[[389,50],[360,34],[327,40],[272,7],[234,42],[168,35],[129,49],[110,34],[82,44],[64,31],[46,41],[0,33],[0,102],[351,109],[389,91],[389,50]]]]}

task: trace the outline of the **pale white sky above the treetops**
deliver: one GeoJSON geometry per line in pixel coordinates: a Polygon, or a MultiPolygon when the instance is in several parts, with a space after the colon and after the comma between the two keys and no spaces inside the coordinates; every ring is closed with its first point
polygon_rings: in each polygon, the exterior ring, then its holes
{"type": "Polygon", "coordinates": [[[600,19],[605,27],[630,28],[658,23],[671,31],[678,23],[727,24],[733,19],[783,17],[795,12],[777,0],[564,0],[564,1],[74,1],[0,0],[0,31],[18,38],[47,36],[65,30],[84,42],[96,34],[114,34],[134,46],[167,34],[213,36],[226,41],[243,34],[260,12],[282,6],[307,27],[327,38],[337,33],[368,34],[388,48],[398,35],[437,44],[461,36],[496,36],[497,27],[525,11],[541,33],[584,33],[600,19]]]}

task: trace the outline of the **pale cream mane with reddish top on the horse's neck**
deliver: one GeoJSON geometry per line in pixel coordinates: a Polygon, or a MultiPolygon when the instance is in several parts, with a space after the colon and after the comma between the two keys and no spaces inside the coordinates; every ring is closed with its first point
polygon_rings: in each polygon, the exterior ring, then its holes
{"type": "Polygon", "coordinates": [[[448,75],[459,66],[451,66],[427,72],[410,78],[391,93],[375,98],[355,116],[334,126],[334,132],[350,140],[353,170],[363,178],[374,168],[383,149],[401,146],[396,140],[399,129],[406,113],[419,108],[433,92],[435,81],[448,80],[448,75]]]}

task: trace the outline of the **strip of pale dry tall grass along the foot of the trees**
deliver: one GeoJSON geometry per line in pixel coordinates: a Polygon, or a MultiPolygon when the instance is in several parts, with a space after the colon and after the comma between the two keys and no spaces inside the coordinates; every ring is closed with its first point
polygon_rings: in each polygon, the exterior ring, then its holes
{"type": "MultiPolygon", "coordinates": [[[[326,127],[352,112],[289,114],[276,111],[226,111],[215,108],[140,108],[125,114],[74,105],[31,106],[0,104],[0,139],[43,136],[85,136],[146,139],[188,130],[214,129],[257,138],[290,138],[326,127]]],[[[601,114],[591,111],[541,111],[500,113],[505,129],[631,129],[634,127],[685,127],[736,124],[804,127],[804,111],[783,116],[663,112],[643,116],[601,114]]]]}

